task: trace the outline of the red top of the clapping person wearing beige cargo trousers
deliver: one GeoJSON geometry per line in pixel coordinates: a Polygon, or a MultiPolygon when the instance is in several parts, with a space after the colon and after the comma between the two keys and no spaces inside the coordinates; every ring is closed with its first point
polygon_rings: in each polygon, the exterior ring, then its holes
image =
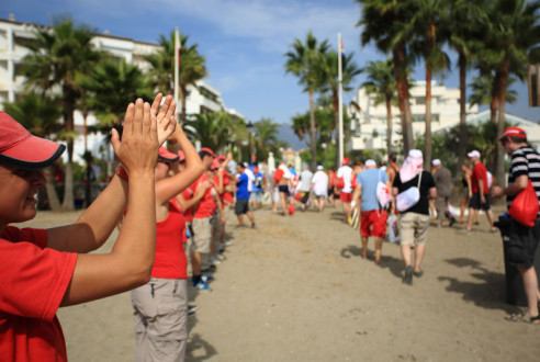
{"type": "Polygon", "coordinates": [[[175,200],[169,202],[169,215],[157,223],[156,258],[151,268],[153,278],[187,279],[188,259],[183,250],[185,219],[175,200]]]}

